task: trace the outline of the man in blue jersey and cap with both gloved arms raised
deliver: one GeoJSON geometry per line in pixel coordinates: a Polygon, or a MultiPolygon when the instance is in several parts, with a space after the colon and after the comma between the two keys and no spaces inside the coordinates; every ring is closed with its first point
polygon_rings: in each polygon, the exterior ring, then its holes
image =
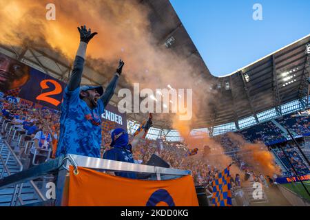
{"type": "Polygon", "coordinates": [[[69,153],[101,156],[101,114],[114,94],[124,65],[123,61],[119,61],[116,73],[105,91],[101,86],[80,87],[87,44],[97,33],[87,30],[85,25],[78,30],[81,41],[64,91],[56,157],[69,153]]]}

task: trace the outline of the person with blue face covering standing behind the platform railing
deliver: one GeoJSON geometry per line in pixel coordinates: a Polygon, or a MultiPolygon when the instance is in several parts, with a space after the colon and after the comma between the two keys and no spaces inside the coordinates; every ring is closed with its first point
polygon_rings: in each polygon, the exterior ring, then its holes
{"type": "MultiPolygon", "coordinates": [[[[112,148],[104,153],[103,159],[112,159],[134,164],[134,157],[132,157],[132,144],[129,143],[128,133],[124,129],[115,129],[112,131],[111,139],[112,142],[110,146],[112,146],[112,148]]],[[[116,176],[136,179],[135,173],[114,173],[116,176]]]]}

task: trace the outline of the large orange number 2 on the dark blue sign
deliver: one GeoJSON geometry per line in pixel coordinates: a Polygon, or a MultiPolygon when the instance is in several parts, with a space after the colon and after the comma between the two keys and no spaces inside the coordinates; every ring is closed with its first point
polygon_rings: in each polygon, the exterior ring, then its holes
{"type": "Polygon", "coordinates": [[[49,92],[45,92],[43,94],[40,94],[39,96],[37,96],[36,99],[37,100],[43,100],[45,102],[49,102],[50,104],[54,104],[54,106],[58,106],[61,102],[59,100],[56,100],[54,98],[50,98],[48,96],[61,94],[61,91],[63,91],[63,89],[61,88],[61,85],[59,83],[57,83],[55,80],[42,80],[40,83],[41,88],[42,89],[50,88],[47,83],[52,83],[54,85],[55,89],[53,91],[49,91],[49,92]]]}

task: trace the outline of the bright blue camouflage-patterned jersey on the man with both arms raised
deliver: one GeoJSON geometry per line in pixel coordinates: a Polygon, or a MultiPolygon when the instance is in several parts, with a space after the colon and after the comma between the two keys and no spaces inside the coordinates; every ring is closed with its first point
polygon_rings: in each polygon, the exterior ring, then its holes
{"type": "Polygon", "coordinates": [[[79,95],[79,87],[74,91],[65,88],[56,157],[68,153],[100,157],[103,102],[99,99],[97,107],[90,109],[79,95]]]}

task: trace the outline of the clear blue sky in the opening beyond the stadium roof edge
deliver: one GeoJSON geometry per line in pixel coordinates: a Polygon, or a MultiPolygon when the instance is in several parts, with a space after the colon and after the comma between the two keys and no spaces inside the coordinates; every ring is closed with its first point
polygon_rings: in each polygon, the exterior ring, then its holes
{"type": "Polygon", "coordinates": [[[209,71],[224,76],[310,34],[310,0],[170,0],[209,71]],[[262,6],[262,20],[253,14],[262,6]]]}

